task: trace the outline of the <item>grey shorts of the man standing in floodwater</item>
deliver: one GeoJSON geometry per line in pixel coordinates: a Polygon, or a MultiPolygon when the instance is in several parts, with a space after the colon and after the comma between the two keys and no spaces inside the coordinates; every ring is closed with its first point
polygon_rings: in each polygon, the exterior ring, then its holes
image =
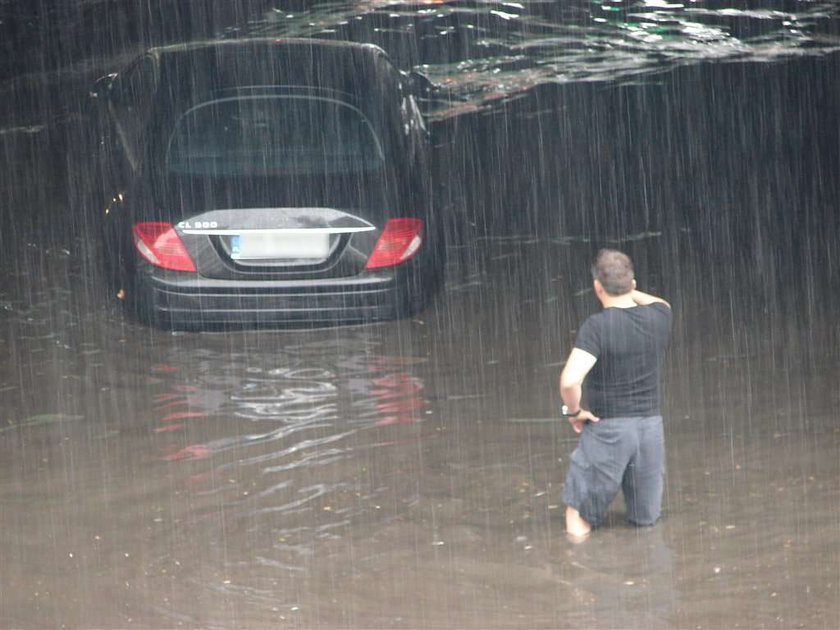
{"type": "Polygon", "coordinates": [[[572,452],[563,502],[597,527],[620,488],[627,520],[653,525],[662,511],[664,475],[662,416],[588,422],[572,452]]]}

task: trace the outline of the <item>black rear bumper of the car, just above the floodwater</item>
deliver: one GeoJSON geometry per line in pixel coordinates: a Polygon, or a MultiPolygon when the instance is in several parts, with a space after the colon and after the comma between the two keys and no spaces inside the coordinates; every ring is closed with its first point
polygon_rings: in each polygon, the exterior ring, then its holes
{"type": "Polygon", "coordinates": [[[351,279],[231,282],[194,275],[140,274],[141,315],[173,328],[218,325],[324,325],[393,319],[411,310],[408,270],[351,279]]]}

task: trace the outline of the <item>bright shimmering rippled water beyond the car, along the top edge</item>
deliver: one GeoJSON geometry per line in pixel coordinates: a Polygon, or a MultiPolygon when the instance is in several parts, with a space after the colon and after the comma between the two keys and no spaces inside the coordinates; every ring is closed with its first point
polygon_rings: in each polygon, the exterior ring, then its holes
{"type": "MultiPolygon", "coordinates": [[[[546,83],[655,80],[705,60],[774,61],[840,44],[835,2],[276,2],[244,30],[374,42],[444,92],[434,118],[486,109],[546,83]]],[[[236,29],[232,35],[241,35],[236,29]]]]}

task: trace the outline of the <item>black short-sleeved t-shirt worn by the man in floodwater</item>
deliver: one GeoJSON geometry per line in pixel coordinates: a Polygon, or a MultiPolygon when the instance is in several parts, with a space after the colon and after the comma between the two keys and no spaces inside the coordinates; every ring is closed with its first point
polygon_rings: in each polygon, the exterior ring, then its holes
{"type": "Polygon", "coordinates": [[[575,348],[598,359],[583,386],[592,413],[599,418],[660,414],[659,365],[671,320],[671,309],[654,302],[605,308],[583,323],[575,348]]]}

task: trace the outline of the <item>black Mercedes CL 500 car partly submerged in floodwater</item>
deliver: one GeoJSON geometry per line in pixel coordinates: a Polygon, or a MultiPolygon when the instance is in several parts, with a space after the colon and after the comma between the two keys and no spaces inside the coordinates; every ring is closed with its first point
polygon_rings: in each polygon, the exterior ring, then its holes
{"type": "Polygon", "coordinates": [[[376,46],[292,39],[154,48],[100,80],[114,292],[178,328],[421,310],[443,239],[411,86],[376,46]]]}

